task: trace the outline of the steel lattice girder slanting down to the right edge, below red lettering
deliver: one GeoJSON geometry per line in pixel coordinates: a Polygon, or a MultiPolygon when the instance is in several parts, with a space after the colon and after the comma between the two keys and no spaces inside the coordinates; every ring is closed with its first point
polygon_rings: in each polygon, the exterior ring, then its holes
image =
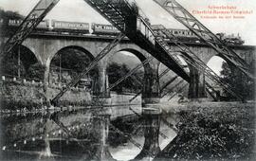
{"type": "Polygon", "coordinates": [[[202,25],[192,14],[175,0],[154,0],[160,7],[167,10],[178,22],[188,27],[205,43],[215,49],[228,63],[233,64],[250,79],[254,79],[249,65],[238,54],[222,42],[210,29],[202,25]]]}

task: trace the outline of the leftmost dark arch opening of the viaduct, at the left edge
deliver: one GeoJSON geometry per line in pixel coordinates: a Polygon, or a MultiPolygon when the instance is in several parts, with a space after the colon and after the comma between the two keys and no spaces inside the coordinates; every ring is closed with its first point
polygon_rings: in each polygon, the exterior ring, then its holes
{"type": "Polygon", "coordinates": [[[16,46],[3,58],[1,73],[10,78],[44,80],[44,67],[34,53],[24,45],[16,46]]]}

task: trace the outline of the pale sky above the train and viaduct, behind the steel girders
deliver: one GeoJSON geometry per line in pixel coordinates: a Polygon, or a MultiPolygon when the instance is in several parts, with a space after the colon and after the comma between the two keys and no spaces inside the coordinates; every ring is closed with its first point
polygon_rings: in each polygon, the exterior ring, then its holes
{"type": "MultiPolygon", "coordinates": [[[[198,14],[193,14],[203,25],[210,28],[213,33],[225,32],[228,34],[239,33],[246,45],[256,45],[256,0],[176,0],[185,9],[204,10],[209,6],[235,6],[237,9],[252,10],[245,19],[204,19],[198,14]],[[255,10],[253,10],[255,9],[255,10]]],[[[0,8],[18,11],[23,15],[36,5],[39,0],[0,0],[0,8]]],[[[149,17],[153,25],[162,24],[165,27],[185,28],[174,18],[161,9],[153,0],[136,0],[140,9],[149,17]]],[[[102,23],[109,24],[101,15],[90,8],[83,0],[60,0],[60,2],[47,15],[46,19],[102,23]]],[[[213,67],[220,66],[220,59],[213,61],[213,67]]]]}

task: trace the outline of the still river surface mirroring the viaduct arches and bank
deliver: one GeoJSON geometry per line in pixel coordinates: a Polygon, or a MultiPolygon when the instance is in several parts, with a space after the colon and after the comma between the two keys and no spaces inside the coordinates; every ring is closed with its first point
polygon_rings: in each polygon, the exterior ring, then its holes
{"type": "Polygon", "coordinates": [[[131,160],[143,148],[151,156],[149,147],[163,150],[174,138],[175,121],[172,114],[110,120],[88,109],[1,116],[0,160],[131,160]]]}

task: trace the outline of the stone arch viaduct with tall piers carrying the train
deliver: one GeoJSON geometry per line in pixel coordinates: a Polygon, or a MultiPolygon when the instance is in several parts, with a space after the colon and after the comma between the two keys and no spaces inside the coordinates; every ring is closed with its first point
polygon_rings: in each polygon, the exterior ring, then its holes
{"type": "MultiPolygon", "coordinates": [[[[33,34],[30,35],[22,45],[26,46],[36,57],[39,63],[45,66],[45,82],[49,82],[49,66],[51,60],[58,51],[64,48],[76,48],[81,50],[84,54],[94,59],[101,50],[113,40],[112,37],[104,36],[75,36],[75,35],[47,35],[47,34],[33,34]]],[[[171,45],[176,47],[175,45],[171,45]]],[[[217,55],[217,53],[207,45],[203,44],[188,44],[192,51],[204,62],[208,63],[210,58],[217,55]]],[[[255,60],[255,47],[254,46],[233,46],[233,49],[246,59],[247,63],[252,63],[255,60]]],[[[115,46],[110,53],[104,57],[99,63],[99,88],[97,93],[107,94],[106,88],[108,82],[106,82],[106,67],[111,56],[118,51],[129,51],[137,56],[137,58],[143,62],[150,56],[147,51],[133,44],[128,39],[122,40],[119,45],[115,46]]],[[[159,96],[159,84],[153,83],[155,80],[158,82],[158,67],[159,62],[154,60],[144,65],[145,76],[144,90],[142,96],[144,98],[157,98],[159,96]],[[154,85],[153,85],[154,84],[154,85]]],[[[204,77],[200,77],[199,72],[190,67],[190,88],[192,92],[189,93],[191,98],[205,97],[204,77]]],[[[202,75],[201,75],[202,76],[202,75]]],[[[149,99],[150,100],[150,99],[149,99]]],[[[151,101],[151,100],[150,100],[151,101]]]]}

